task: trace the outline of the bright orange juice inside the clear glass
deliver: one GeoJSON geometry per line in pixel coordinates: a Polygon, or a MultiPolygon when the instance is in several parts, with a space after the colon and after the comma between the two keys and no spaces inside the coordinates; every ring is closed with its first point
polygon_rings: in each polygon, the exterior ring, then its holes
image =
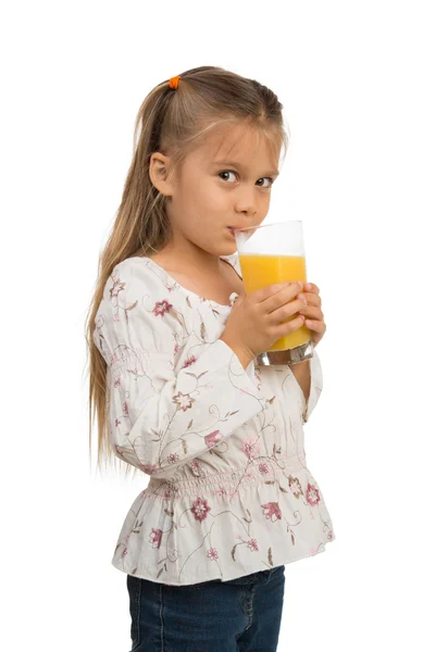
{"type": "MultiPolygon", "coordinates": [[[[247,294],[274,283],[291,280],[307,283],[306,259],[302,255],[240,253],[239,261],[247,294]]],[[[290,322],[298,314],[291,315],[283,324],[290,322]]],[[[279,338],[269,351],[285,351],[300,347],[300,344],[306,344],[310,337],[310,329],[301,326],[294,333],[279,338]]]]}

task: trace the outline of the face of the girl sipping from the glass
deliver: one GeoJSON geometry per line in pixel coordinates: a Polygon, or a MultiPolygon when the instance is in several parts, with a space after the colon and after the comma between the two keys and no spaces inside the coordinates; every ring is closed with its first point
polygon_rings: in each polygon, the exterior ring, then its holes
{"type": "Polygon", "coordinates": [[[237,250],[231,227],[262,223],[279,174],[272,142],[252,127],[226,125],[187,155],[166,204],[178,248],[228,255],[237,250]]]}

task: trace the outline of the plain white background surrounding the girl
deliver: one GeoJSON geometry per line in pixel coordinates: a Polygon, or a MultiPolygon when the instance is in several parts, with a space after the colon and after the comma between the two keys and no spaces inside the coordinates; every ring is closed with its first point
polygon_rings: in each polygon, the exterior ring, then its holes
{"type": "MultiPolygon", "coordinates": [[[[306,427],[336,541],[286,566],[279,652],[433,650],[433,3],[21,2],[2,10],[2,649],[129,649],[111,565],[148,478],[88,463],[84,323],[133,125],[170,76],[270,86],[327,333],[306,427]]],[[[95,431],[96,437],[96,431],[95,431]]]]}

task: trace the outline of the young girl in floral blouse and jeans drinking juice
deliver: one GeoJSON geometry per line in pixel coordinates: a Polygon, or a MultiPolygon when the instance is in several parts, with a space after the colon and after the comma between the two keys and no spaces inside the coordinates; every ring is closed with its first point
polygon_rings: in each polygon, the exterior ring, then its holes
{"type": "Polygon", "coordinates": [[[246,294],[233,233],[268,214],[282,108],[219,67],[157,86],[100,256],[88,322],[98,463],[150,476],[112,560],[137,652],[276,650],[285,564],[335,538],[303,447],[318,353],[256,364],[304,317],[316,347],[319,288],[288,279],[246,294]]]}

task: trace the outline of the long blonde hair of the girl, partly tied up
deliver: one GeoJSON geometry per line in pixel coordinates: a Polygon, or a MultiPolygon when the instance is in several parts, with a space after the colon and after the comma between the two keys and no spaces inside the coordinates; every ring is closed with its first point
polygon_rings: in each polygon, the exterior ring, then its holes
{"type": "MultiPolygon", "coordinates": [[[[116,459],[110,443],[107,418],[107,363],[92,334],[105,283],[113,267],[129,256],[159,251],[171,240],[166,198],[151,184],[150,156],[154,151],[171,155],[174,171],[183,164],[201,138],[223,122],[247,122],[261,129],[278,151],[287,151],[288,135],[283,105],[276,95],[254,79],[221,67],[201,66],[182,73],[176,90],[169,79],[145,98],[135,122],[133,160],[125,180],[121,204],[108,241],[100,252],[98,278],[88,310],[85,338],[89,372],[89,457],[91,456],[92,412],[98,417],[98,461],[117,461],[125,473],[132,466],[116,459]],[[94,409],[94,411],[92,411],[94,409]]],[[[115,469],[116,471],[116,469],[115,469]]],[[[134,476],[136,473],[134,468],[134,476]]]]}

